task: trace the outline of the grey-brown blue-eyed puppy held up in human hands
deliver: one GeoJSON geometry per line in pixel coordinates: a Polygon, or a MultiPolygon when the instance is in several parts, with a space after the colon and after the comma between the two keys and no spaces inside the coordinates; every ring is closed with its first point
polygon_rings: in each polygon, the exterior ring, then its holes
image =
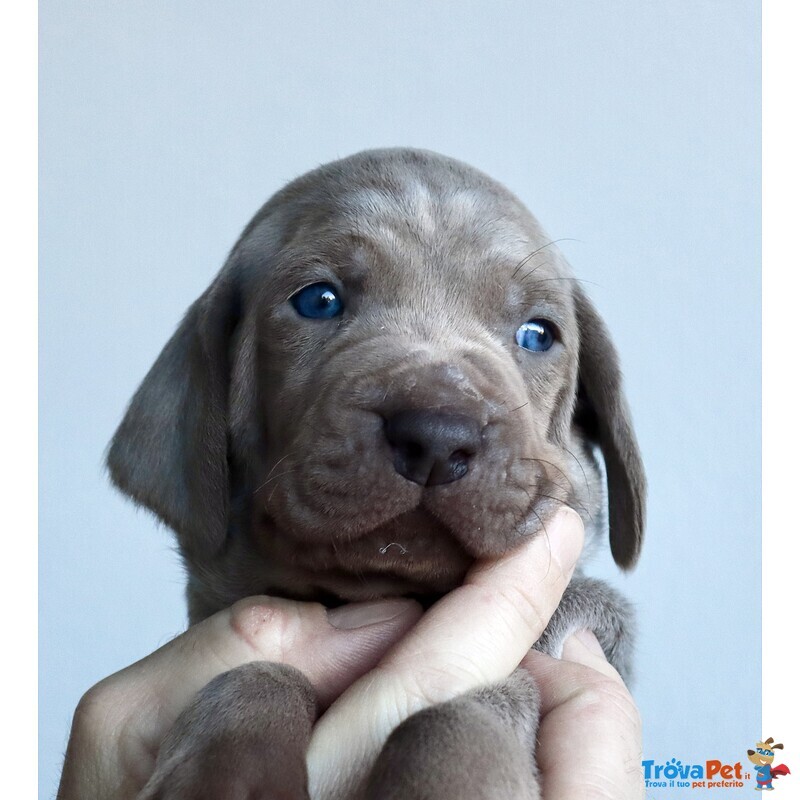
{"type": "MultiPolygon", "coordinates": [[[[418,150],[359,153],[267,202],[145,377],[108,465],[175,530],[192,623],[257,594],[430,603],[561,505],[622,568],[642,541],[605,325],[517,198],[418,150]]],[[[558,655],[590,628],[627,676],[632,626],[579,570],[537,647],[558,655]]],[[[520,674],[421,712],[341,797],[537,797],[537,714],[520,674]]],[[[313,720],[296,670],[232,670],[178,720],[141,797],[305,798],[313,720]]]]}

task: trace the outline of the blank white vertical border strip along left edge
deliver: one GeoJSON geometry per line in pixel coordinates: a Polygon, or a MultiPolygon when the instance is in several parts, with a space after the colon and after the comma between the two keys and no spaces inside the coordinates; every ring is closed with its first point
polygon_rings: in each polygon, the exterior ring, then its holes
{"type": "Polygon", "coordinates": [[[30,797],[37,759],[37,14],[0,12],[0,391],[3,498],[3,795],[30,797]]]}

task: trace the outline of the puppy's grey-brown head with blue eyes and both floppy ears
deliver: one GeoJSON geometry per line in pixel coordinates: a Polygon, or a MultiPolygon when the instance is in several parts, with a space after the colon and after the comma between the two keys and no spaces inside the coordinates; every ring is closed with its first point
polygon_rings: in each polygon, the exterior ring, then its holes
{"type": "Polygon", "coordinates": [[[513,195],[420,151],[362,153],[275,195],[148,373],[108,463],[190,563],[246,541],[270,586],[284,570],[345,599],[445,591],[561,504],[592,532],[607,497],[623,567],[642,536],[602,320],[513,195]]]}

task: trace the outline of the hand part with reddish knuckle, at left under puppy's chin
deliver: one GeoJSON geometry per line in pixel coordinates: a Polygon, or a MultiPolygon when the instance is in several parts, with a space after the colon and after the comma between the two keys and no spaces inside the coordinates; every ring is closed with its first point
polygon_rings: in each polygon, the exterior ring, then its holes
{"type": "Polygon", "coordinates": [[[58,800],[128,800],[150,778],[159,745],[212,678],[251,661],[300,669],[319,708],[378,662],[420,618],[410,600],[316,603],[252,597],[192,626],[101,681],[75,712],[58,800]]]}

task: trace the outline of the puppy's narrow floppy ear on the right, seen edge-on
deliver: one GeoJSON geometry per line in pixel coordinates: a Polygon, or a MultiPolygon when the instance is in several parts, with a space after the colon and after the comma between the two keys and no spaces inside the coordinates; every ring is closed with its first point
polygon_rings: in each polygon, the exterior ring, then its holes
{"type": "Polygon", "coordinates": [[[617,351],[605,323],[577,285],[575,307],[580,336],[576,416],[603,453],[611,552],[617,564],[628,569],[639,557],[644,534],[644,466],[622,393],[617,351]]]}

